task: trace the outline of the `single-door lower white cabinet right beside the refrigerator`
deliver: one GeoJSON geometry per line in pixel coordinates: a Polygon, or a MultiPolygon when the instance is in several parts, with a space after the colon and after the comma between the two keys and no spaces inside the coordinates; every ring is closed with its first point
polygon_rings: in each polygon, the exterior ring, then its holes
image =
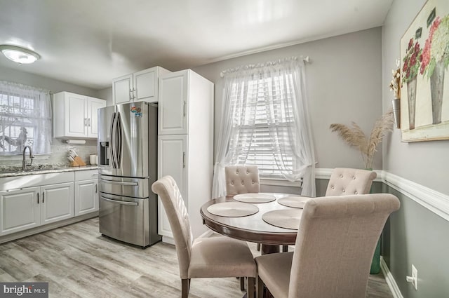
{"type": "Polygon", "coordinates": [[[98,211],[98,170],[75,172],[75,216],[98,211]]]}

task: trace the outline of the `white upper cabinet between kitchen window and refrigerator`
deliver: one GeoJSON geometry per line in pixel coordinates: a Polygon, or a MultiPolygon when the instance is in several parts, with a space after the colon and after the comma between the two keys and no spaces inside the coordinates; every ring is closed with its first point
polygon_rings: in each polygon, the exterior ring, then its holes
{"type": "Polygon", "coordinates": [[[106,101],[86,95],[60,92],[53,95],[54,137],[98,137],[98,109],[106,101]]]}

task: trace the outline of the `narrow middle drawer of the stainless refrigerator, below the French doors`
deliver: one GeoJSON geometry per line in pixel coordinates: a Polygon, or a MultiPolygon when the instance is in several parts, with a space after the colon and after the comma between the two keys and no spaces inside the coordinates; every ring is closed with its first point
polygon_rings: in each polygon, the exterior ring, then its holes
{"type": "Polygon", "coordinates": [[[149,197],[148,178],[128,178],[100,175],[100,192],[133,198],[149,197]]]}

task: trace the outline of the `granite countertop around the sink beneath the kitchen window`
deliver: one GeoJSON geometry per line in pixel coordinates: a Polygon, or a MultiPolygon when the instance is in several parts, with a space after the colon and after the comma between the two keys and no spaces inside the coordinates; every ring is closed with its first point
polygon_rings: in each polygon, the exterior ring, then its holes
{"type": "Polygon", "coordinates": [[[29,170],[22,170],[22,167],[11,166],[0,168],[1,177],[14,177],[24,175],[48,174],[51,172],[72,172],[75,170],[96,170],[98,165],[84,165],[79,167],[71,167],[69,165],[35,165],[29,167],[29,170]]]}

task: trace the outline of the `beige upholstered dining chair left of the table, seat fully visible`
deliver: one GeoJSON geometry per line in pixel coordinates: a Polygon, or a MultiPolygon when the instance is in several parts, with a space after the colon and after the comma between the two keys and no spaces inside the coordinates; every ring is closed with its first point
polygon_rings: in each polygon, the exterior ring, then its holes
{"type": "Polygon", "coordinates": [[[189,296],[191,278],[248,277],[248,297],[254,297],[256,266],[244,241],[225,236],[192,240],[189,215],[173,177],[165,176],[152,184],[161,198],[175,239],[180,267],[181,297],[189,296]]]}

